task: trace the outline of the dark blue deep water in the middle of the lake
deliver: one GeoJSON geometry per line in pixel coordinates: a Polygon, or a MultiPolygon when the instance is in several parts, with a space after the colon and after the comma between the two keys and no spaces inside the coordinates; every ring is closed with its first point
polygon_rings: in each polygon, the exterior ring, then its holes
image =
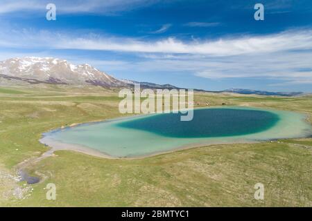
{"type": "Polygon", "coordinates": [[[266,131],[279,121],[279,116],[269,111],[236,108],[207,108],[194,110],[193,120],[180,121],[180,114],[160,114],[117,126],[148,131],[166,137],[227,137],[266,131]]]}

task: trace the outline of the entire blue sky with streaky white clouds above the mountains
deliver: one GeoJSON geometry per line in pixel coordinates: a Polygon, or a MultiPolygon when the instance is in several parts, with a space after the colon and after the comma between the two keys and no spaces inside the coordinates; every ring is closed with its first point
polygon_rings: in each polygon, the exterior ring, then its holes
{"type": "Polygon", "coordinates": [[[1,0],[0,30],[1,61],[58,57],[183,88],[312,92],[311,0],[1,0]]]}

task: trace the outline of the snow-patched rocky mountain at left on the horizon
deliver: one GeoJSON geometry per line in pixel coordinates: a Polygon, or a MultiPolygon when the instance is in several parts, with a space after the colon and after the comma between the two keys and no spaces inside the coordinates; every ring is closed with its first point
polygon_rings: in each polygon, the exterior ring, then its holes
{"type": "Polygon", "coordinates": [[[67,60],[52,57],[24,57],[1,61],[0,77],[27,81],[31,84],[126,85],[123,81],[89,66],[89,64],[76,66],[67,60]]]}

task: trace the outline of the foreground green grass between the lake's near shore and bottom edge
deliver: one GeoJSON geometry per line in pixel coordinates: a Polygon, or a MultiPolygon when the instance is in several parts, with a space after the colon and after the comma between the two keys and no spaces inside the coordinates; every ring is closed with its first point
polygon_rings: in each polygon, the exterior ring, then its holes
{"type": "Polygon", "coordinates": [[[144,160],[59,151],[35,168],[51,174],[21,206],[309,206],[311,150],[286,144],[195,148],[144,160]],[[70,166],[69,166],[70,165],[70,166]],[[45,199],[47,183],[57,200],[45,199]],[[265,200],[254,200],[254,184],[265,200]]]}

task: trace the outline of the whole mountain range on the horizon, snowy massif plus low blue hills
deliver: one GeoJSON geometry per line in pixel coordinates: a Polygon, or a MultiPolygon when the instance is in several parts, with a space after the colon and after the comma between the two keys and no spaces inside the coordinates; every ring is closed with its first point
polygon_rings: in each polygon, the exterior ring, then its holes
{"type": "MultiPolygon", "coordinates": [[[[53,57],[24,57],[12,58],[0,62],[0,85],[19,84],[65,84],[65,85],[93,85],[106,88],[132,87],[140,84],[141,88],[168,88],[178,87],[171,84],[154,84],[128,79],[116,79],[89,64],[73,65],[67,60],[53,57]]],[[[208,91],[199,90],[198,91],[208,91]]],[[[297,96],[301,92],[273,93],[262,90],[228,89],[208,91],[214,93],[239,93],[244,95],[278,95],[297,96]]]]}

